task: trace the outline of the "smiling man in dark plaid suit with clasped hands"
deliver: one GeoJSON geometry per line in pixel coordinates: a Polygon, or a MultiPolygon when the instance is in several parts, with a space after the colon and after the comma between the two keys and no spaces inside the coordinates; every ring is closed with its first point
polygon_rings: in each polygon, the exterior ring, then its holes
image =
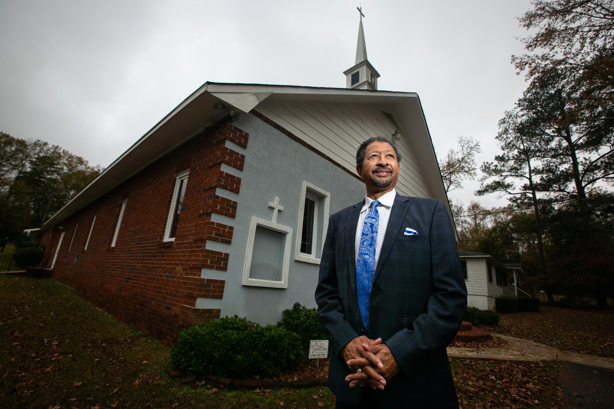
{"type": "Polygon", "coordinates": [[[394,189],[401,157],[376,136],[356,153],[365,200],[328,222],[316,289],[337,408],[457,408],[446,346],[467,306],[441,201],[394,189]]]}

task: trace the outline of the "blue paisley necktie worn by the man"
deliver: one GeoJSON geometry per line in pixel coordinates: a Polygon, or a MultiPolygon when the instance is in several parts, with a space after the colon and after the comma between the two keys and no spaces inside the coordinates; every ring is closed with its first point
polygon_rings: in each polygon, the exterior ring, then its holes
{"type": "Polygon", "coordinates": [[[371,202],[371,207],[365,216],[362,226],[358,259],[356,260],[356,294],[358,295],[358,309],[365,330],[369,330],[369,300],[371,286],[375,275],[375,242],[378,239],[379,227],[379,200],[371,202]]]}

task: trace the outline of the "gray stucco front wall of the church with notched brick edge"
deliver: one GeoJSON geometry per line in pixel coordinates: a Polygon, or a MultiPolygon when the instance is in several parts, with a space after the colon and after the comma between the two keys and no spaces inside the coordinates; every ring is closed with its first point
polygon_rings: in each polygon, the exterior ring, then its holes
{"type": "MultiPolygon", "coordinates": [[[[301,185],[308,181],[330,192],[330,214],[357,203],[365,195],[364,185],[319,155],[288,138],[285,134],[251,114],[241,115],[236,127],[249,133],[247,149],[227,142],[227,146],[245,155],[243,171],[230,166],[223,170],[241,177],[238,195],[218,189],[223,197],[238,201],[235,219],[213,215],[216,222],[234,226],[231,244],[208,242],[207,248],[228,252],[227,271],[203,269],[206,278],[225,279],[222,300],[199,298],[198,308],[221,308],[221,315],[246,316],[260,324],[274,324],[281,319],[281,311],[300,302],[308,307],[316,306],[314,291],[317,284],[319,264],[295,260],[301,185]],[[291,227],[292,253],[287,289],[243,286],[243,266],[246,257],[247,239],[252,216],[271,220],[273,209],[269,202],[279,197],[284,207],[278,212],[278,224],[291,227]]],[[[320,213],[320,212],[319,212],[320,213]]],[[[322,213],[320,213],[322,214],[322,213]]],[[[322,226],[318,226],[318,247],[321,247],[322,226]]],[[[254,246],[254,251],[258,246],[254,246]]],[[[320,252],[317,252],[319,256],[320,252]]],[[[262,260],[262,256],[258,255],[262,260]]],[[[252,259],[255,260],[255,259],[252,259]]]]}

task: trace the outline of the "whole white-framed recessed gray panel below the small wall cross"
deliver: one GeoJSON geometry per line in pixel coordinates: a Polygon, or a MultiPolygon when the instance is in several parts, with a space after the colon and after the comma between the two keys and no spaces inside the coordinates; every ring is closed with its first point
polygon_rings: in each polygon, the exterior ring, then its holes
{"type": "Polygon", "coordinates": [[[242,284],[288,288],[291,251],[291,227],[252,217],[242,284]]]}

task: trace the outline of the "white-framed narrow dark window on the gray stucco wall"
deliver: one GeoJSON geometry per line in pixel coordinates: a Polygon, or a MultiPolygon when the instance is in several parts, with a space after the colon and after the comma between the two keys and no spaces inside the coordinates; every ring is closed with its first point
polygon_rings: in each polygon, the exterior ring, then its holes
{"type": "Polygon", "coordinates": [[[298,208],[297,243],[294,259],[308,263],[320,263],[322,247],[328,229],[330,193],[303,181],[298,208]]]}

